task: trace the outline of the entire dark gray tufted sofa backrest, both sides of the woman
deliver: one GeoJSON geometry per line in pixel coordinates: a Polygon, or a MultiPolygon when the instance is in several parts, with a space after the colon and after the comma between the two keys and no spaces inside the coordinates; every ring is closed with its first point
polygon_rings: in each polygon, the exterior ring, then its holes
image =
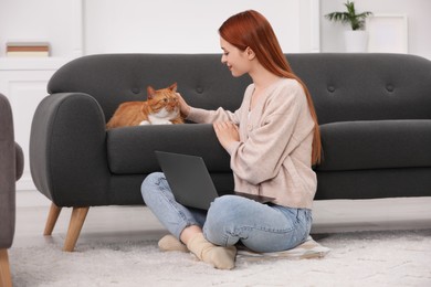
{"type": "MultiPolygon", "coordinates": [[[[430,119],[431,62],[403,54],[286,54],[314,98],[319,124],[430,119]]],[[[51,78],[48,92],[81,92],[106,120],[123,102],[145,100],[146,87],[178,83],[197,107],[236,109],[248,76],[234,78],[219,54],[102,54],[76,59],[51,78]]]]}

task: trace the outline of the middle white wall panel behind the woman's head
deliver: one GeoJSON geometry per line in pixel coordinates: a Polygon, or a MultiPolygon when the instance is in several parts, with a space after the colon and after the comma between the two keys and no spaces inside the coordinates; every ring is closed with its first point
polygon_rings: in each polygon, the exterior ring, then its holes
{"type": "Polygon", "coordinates": [[[311,19],[311,7],[304,4],[309,2],[318,3],[314,0],[85,1],[85,54],[220,53],[219,26],[230,15],[248,9],[269,19],[285,52],[307,52],[311,31],[302,28],[307,24],[303,19],[311,19]]]}

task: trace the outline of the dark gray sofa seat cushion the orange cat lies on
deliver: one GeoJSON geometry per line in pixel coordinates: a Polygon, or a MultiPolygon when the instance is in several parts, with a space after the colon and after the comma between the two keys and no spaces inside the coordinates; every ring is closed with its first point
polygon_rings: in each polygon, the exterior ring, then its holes
{"type": "Polygon", "coordinates": [[[107,131],[106,140],[109,170],[115,174],[159,171],[155,150],[201,156],[211,172],[231,172],[230,157],[220,146],[212,125],[115,128],[107,131]]]}

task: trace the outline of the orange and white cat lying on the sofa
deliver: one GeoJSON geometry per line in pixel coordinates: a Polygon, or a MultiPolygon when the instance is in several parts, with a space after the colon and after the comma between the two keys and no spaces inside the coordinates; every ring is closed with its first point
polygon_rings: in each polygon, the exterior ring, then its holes
{"type": "Polygon", "coordinates": [[[183,124],[176,92],[177,83],[157,91],[148,86],[147,100],[120,104],[106,128],[183,124]]]}

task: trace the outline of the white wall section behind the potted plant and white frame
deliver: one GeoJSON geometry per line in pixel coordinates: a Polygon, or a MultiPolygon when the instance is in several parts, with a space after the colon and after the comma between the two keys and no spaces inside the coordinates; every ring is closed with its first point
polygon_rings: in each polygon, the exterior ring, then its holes
{"type": "MultiPolygon", "coordinates": [[[[344,52],[343,31],[348,29],[329,22],[323,15],[344,11],[345,0],[320,0],[320,50],[344,52]]],[[[357,11],[375,14],[406,14],[408,19],[408,53],[431,60],[431,1],[430,0],[355,0],[357,11]]]]}

